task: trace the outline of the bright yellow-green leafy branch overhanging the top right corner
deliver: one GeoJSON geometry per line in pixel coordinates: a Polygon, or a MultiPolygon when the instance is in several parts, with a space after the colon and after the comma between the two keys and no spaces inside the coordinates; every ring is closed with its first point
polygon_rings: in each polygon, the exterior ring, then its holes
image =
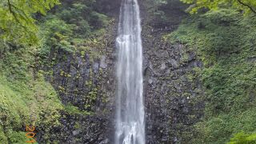
{"type": "Polygon", "coordinates": [[[209,10],[218,10],[223,7],[231,7],[235,10],[244,10],[246,14],[256,13],[256,1],[254,0],[180,0],[182,2],[193,4],[188,8],[191,14],[198,13],[198,10],[207,8],[209,10]]]}

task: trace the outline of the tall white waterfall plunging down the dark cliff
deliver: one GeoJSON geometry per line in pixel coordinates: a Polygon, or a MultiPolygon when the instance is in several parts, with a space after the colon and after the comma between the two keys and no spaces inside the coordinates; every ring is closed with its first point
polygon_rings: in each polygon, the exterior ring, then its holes
{"type": "Polygon", "coordinates": [[[141,20],[137,0],[122,0],[118,25],[115,144],[145,144],[141,20]]]}

